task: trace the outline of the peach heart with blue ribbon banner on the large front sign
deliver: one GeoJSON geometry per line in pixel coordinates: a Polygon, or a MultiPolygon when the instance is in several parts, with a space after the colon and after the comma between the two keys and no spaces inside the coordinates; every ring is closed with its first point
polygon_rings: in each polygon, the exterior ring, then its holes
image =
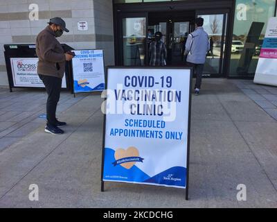
{"type": "Polygon", "coordinates": [[[125,169],[131,169],[136,162],[143,162],[143,158],[139,156],[139,151],[136,147],[130,146],[127,150],[123,148],[118,148],[114,153],[114,158],[116,159],[114,167],[120,165],[125,169]]]}

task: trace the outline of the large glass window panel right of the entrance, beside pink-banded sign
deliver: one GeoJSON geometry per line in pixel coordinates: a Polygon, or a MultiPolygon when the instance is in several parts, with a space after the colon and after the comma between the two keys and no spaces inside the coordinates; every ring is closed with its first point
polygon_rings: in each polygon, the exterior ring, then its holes
{"type": "Polygon", "coordinates": [[[276,0],[236,0],[230,76],[253,76],[276,0]]]}

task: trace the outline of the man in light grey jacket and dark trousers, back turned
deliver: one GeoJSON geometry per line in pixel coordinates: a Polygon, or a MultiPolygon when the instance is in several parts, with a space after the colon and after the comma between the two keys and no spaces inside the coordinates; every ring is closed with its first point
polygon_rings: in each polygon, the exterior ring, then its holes
{"type": "Polygon", "coordinates": [[[195,31],[188,35],[186,41],[186,61],[189,66],[192,66],[196,72],[195,83],[195,95],[199,95],[199,89],[202,83],[202,73],[204,69],[204,63],[206,60],[206,54],[210,50],[210,44],[208,41],[208,34],[202,27],[204,24],[203,18],[195,19],[195,31]]]}

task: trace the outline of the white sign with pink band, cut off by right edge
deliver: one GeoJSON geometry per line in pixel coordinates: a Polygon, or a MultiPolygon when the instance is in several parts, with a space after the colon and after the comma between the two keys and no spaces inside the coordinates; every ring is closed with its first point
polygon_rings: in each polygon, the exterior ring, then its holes
{"type": "Polygon", "coordinates": [[[271,17],[260,51],[254,83],[277,86],[277,17],[271,17]]]}

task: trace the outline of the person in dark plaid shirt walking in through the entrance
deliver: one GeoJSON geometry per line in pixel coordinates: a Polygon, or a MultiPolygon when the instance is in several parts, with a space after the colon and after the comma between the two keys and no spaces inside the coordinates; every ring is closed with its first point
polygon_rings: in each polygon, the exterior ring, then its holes
{"type": "Polygon", "coordinates": [[[165,66],[166,65],[166,45],[161,42],[161,32],[155,33],[155,41],[150,43],[149,58],[150,66],[165,66]]]}

